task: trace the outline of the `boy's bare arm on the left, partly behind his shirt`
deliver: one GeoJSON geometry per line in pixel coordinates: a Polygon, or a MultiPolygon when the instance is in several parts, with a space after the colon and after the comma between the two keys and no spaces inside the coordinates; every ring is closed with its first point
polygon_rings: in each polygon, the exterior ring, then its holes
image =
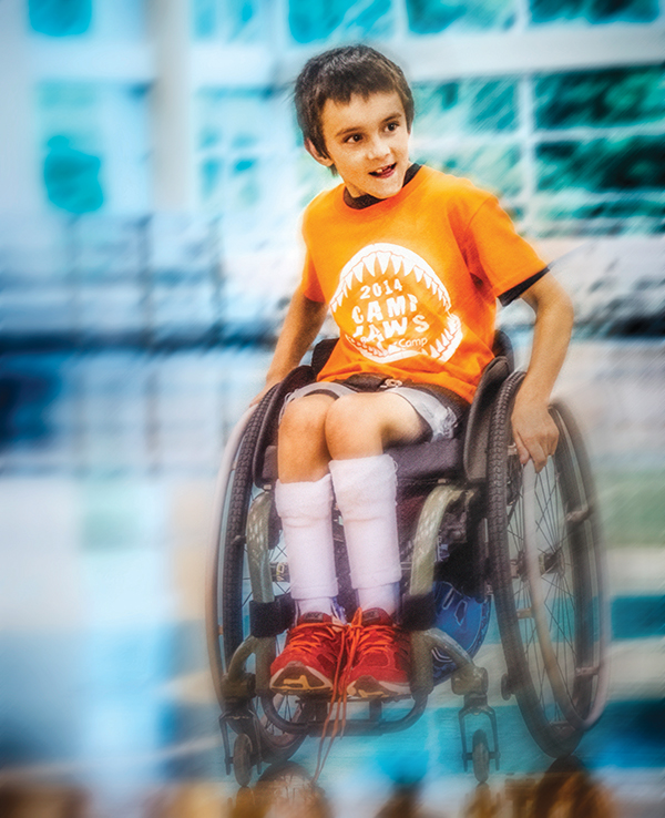
{"type": "Polygon", "coordinates": [[[303,295],[300,287],[294,293],[284,326],[279,333],[275,355],[266,375],[266,386],[254,398],[252,403],[258,403],[263,396],[275,384],[297,367],[305,352],[318,335],[324,324],[328,305],[324,301],[313,301],[303,295]]]}

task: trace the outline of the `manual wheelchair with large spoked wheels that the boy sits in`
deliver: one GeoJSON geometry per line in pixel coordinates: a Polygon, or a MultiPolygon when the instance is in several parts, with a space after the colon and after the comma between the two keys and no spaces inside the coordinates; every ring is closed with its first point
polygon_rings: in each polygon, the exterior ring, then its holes
{"type": "MultiPolygon", "coordinates": [[[[274,505],[279,412],[290,391],[316,379],[334,344],[319,342],[310,365],[247,410],[219,470],[206,630],[226,773],[233,768],[242,786],[255,767],[260,773],[264,763],[288,759],[306,736],[330,734],[330,701],[272,693],[269,667],[295,614],[274,505]]],[[[442,583],[485,613],[493,602],[508,668],[501,695],[515,696],[545,754],[570,755],[600,718],[607,694],[604,555],[582,439],[566,407],[553,402],[556,452],[539,473],[531,462],[522,467],[510,418],[524,372],[514,370],[502,333],[494,355],[456,438],[387,449],[397,464],[400,623],[410,632],[412,698],[406,708],[403,702],[354,703],[345,727],[346,735],[406,729],[424,712],[434,684],[450,677],[453,694],[463,697],[463,767],[471,764],[481,783],[491,761],[497,769],[500,763],[488,673],[473,662],[484,634],[463,645],[439,626],[442,583]],[[490,738],[477,729],[469,740],[469,716],[489,720],[490,738]]],[[[335,508],[332,525],[338,602],[350,621],[357,602],[335,508]]]]}

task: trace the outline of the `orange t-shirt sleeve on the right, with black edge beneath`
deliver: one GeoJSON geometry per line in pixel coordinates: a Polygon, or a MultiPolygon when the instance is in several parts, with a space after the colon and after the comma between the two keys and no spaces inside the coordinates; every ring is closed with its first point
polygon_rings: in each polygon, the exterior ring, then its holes
{"type": "Polygon", "coordinates": [[[487,280],[495,298],[546,267],[533,247],[518,235],[495,196],[489,196],[473,215],[466,245],[468,256],[480,267],[473,273],[487,280]]]}

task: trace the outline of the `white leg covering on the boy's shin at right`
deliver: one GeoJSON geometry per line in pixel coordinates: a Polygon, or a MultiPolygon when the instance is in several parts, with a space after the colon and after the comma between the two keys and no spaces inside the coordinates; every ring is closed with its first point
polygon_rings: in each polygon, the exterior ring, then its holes
{"type": "Polygon", "coordinates": [[[360,606],[391,614],[401,576],[395,462],[389,454],[378,454],[332,460],[329,468],[360,606]]]}

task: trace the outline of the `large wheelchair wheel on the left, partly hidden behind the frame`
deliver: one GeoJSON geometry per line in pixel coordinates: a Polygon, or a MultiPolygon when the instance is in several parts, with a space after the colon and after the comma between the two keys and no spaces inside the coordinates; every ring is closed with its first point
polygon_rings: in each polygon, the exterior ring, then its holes
{"type": "MultiPolygon", "coordinates": [[[[267,395],[256,409],[241,420],[232,434],[225,452],[217,485],[217,513],[214,548],[208,575],[207,635],[208,654],[219,705],[225,703],[221,692],[224,666],[228,666],[234,652],[249,634],[249,601],[252,584],[247,568],[246,526],[253,500],[262,493],[253,481],[254,450],[269,408],[267,395]]],[[[272,532],[272,562],[286,558],[279,555],[278,530],[272,532]],[[276,535],[277,534],[277,535],[276,535]]],[[[276,577],[275,592],[288,590],[288,579],[276,577]]],[[[250,659],[250,662],[253,658],[250,659]]],[[[253,668],[248,666],[248,669],[253,668]]],[[[273,705],[278,714],[298,720],[300,707],[290,696],[275,696],[273,705]]],[[[275,727],[263,713],[260,701],[252,701],[260,755],[265,761],[286,760],[301,744],[304,735],[289,734],[275,727]]],[[[232,723],[233,724],[233,723],[232,723]]]]}

